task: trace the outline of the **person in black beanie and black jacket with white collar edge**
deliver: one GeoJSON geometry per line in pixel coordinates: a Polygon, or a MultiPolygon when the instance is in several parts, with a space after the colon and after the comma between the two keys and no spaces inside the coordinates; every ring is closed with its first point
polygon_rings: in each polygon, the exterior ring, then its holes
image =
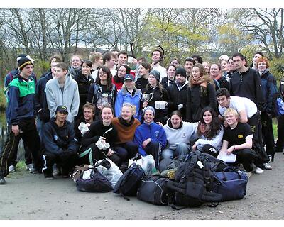
{"type": "Polygon", "coordinates": [[[173,111],[180,111],[182,119],[186,117],[186,104],[187,104],[187,74],[186,70],[178,67],[175,72],[175,82],[168,88],[170,101],[168,103],[168,113],[173,111]]]}

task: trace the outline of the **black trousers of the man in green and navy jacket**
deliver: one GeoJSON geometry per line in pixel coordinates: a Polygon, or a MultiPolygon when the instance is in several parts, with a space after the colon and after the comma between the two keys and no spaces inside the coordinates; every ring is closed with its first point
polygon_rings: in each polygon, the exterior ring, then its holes
{"type": "Polygon", "coordinates": [[[17,136],[11,130],[12,126],[8,126],[8,136],[2,148],[0,155],[0,175],[6,177],[9,173],[9,164],[14,160],[15,154],[18,152],[18,143],[21,139],[26,143],[28,148],[31,150],[33,157],[33,165],[36,170],[40,172],[43,163],[40,160],[40,138],[38,131],[35,127],[35,119],[25,119],[19,123],[19,128],[22,133],[17,136]]]}

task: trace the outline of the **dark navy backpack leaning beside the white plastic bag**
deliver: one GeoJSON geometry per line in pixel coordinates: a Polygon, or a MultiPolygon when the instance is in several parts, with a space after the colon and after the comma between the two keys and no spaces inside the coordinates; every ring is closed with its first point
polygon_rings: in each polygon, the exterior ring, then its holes
{"type": "Polygon", "coordinates": [[[114,193],[120,194],[124,199],[129,200],[126,196],[136,196],[141,179],[145,173],[140,165],[131,164],[128,170],[119,178],[114,187],[114,193]]]}

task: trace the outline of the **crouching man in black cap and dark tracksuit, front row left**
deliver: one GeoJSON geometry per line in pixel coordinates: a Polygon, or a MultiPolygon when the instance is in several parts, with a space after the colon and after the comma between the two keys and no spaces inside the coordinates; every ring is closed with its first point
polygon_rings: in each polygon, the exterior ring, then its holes
{"type": "Polygon", "coordinates": [[[55,118],[51,118],[43,127],[43,174],[45,179],[54,179],[52,173],[54,163],[62,166],[62,177],[69,177],[77,161],[79,146],[75,140],[72,123],[66,121],[67,107],[58,106],[55,114],[55,118]]]}

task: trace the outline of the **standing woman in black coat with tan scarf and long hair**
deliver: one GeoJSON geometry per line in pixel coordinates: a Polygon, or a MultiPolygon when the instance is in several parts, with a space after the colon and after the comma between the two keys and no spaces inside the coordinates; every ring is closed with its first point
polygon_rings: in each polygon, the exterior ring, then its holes
{"type": "Polygon", "coordinates": [[[199,121],[202,109],[205,106],[216,109],[216,104],[214,82],[204,67],[197,63],[192,67],[187,87],[186,121],[199,121]]]}

